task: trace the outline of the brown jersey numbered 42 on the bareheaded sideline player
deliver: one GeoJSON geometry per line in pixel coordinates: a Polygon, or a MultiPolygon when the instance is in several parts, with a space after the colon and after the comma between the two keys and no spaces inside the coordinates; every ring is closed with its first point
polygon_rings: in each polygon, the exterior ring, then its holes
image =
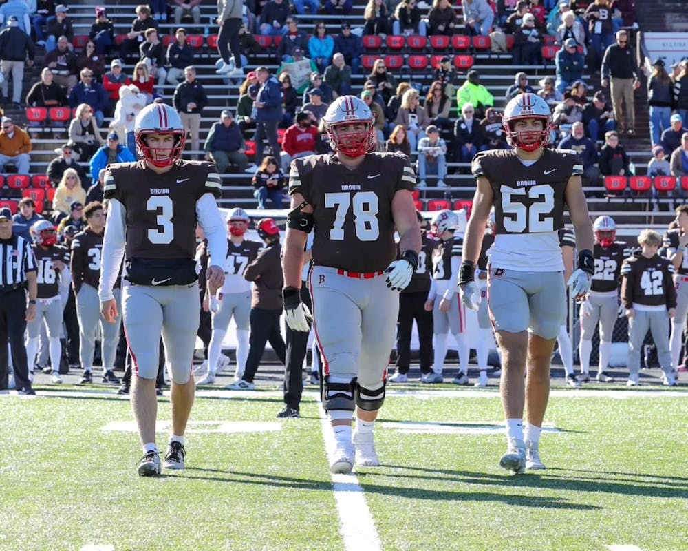
{"type": "Polygon", "coordinates": [[[623,305],[627,309],[634,304],[676,308],[673,275],[674,264],[658,254],[645,258],[638,253],[627,258],[621,265],[623,305]]]}

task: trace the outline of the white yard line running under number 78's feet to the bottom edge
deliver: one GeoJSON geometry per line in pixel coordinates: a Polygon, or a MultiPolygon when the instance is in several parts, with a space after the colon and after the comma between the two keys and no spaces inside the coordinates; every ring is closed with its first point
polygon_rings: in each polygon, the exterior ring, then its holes
{"type": "MultiPolygon", "coordinates": [[[[327,452],[327,463],[334,460],[334,434],[325,410],[320,408],[323,440],[327,452]]],[[[382,549],[378,530],[365,502],[363,488],[356,475],[330,475],[334,486],[334,501],[339,517],[339,532],[347,551],[378,551],[382,549]]]]}

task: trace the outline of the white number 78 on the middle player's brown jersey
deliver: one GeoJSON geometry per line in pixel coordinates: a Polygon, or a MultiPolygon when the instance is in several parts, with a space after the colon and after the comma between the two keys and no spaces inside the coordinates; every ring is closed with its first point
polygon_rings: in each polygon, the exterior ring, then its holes
{"type": "Polygon", "coordinates": [[[378,226],[378,196],[373,191],[357,191],[353,198],[350,193],[325,194],[325,207],[336,207],[334,225],[330,229],[330,239],[341,241],[344,239],[344,222],[349,207],[353,205],[356,237],[360,241],[374,241],[380,236],[378,226]]]}

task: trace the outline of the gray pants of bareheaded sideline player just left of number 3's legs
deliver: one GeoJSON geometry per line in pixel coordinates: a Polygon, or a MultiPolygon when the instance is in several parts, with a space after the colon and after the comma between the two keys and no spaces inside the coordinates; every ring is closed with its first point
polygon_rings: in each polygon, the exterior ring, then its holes
{"type": "MultiPolygon", "coordinates": [[[[122,293],[114,289],[118,311],[122,308],[122,293]]],[[[76,315],[79,320],[79,360],[83,368],[93,367],[93,355],[96,349],[96,333],[100,326],[100,342],[103,350],[103,371],[112,369],[115,365],[117,342],[120,337],[120,323],[122,316],[115,323],[108,323],[100,313],[100,299],[98,291],[84,283],[76,295],[76,315]]]]}

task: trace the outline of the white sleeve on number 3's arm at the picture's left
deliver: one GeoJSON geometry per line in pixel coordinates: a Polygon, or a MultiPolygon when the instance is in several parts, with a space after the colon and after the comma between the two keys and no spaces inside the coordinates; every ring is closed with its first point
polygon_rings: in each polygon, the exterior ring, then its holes
{"type": "Polygon", "coordinates": [[[103,238],[103,254],[100,263],[100,282],[98,282],[98,296],[100,302],[115,298],[112,288],[115,286],[120,273],[122,258],[125,256],[127,210],[117,199],[107,202],[107,223],[103,238]]]}

